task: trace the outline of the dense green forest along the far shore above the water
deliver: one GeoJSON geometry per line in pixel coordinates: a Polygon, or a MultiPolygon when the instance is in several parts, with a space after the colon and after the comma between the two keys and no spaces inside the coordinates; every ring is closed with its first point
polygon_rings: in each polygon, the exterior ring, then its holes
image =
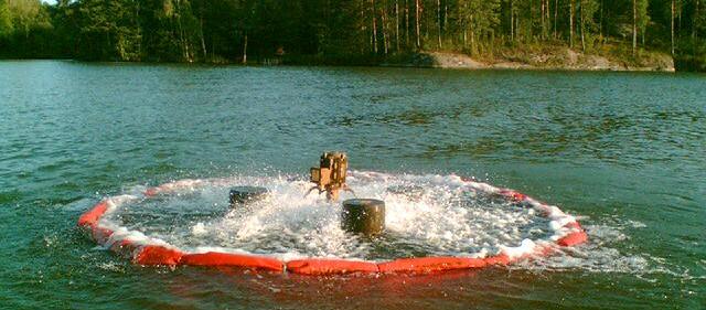
{"type": "Polygon", "coordinates": [[[0,57],[373,64],[567,46],[706,63],[706,0],[0,0],[0,57]]]}

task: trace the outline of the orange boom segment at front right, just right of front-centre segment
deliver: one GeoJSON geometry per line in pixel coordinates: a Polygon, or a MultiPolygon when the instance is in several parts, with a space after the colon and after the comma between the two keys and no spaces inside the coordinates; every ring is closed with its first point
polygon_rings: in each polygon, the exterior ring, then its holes
{"type": "Polygon", "coordinates": [[[381,272],[430,272],[453,269],[483,268],[488,265],[482,258],[467,257],[419,257],[403,258],[377,265],[381,272]]]}

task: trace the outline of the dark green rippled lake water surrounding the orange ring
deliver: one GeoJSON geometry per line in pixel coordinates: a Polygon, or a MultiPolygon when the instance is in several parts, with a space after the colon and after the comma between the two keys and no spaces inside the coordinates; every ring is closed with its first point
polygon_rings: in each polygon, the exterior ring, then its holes
{"type": "Polygon", "coordinates": [[[706,76],[0,62],[0,223],[3,309],[706,309],[706,76]],[[315,278],[140,267],[76,228],[136,185],[303,174],[329,149],[516,189],[589,243],[315,278]]]}

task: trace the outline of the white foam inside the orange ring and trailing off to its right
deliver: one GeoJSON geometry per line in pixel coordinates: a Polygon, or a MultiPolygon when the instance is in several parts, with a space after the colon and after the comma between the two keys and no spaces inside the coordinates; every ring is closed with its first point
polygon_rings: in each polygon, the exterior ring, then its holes
{"type": "MultiPolygon", "coordinates": [[[[175,182],[170,185],[173,192],[153,204],[149,200],[141,201],[139,193],[143,186],[136,186],[128,191],[131,195],[108,201],[106,216],[99,225],[115,231],[106,244],[108,247],[130,239],[137,245],[175,246],[191,253],[267,254],[286,261],[311,256],[387,260],[392,256],[419,253],[478,258],[503,253],[517,258],[550,246],[552,240],[575,231],[565,226],[576,217],[556,206],[533,199],[525,201],[528,209],[486,202],[475,192],[498,193],[499,189],[464,182],[457,175],[352,172],[349,183],[359,196],[386,202],[389,236],[370,242],[346,234],[338,225],[338,204],[327,203],[322,195],[303,197],[310,184],[287,181],[286,177],[239,175],[175,182]],[[193,212],[224,210],[227,189],[233,185],[267,186],[274,195],[253,204],[249,210],[214,213],[190,222],[193,212]],[[388,191],[394,186],[420,186],[421,190],[388,191]],[[137,211],[142,212],[137,218],[126,220],[130,212],[137,211]],[[546,214],[548,218],[539,214],[546,214]],[[140,217],[142,215],[146,218],[140,217]],[[167,221],[150,222],[147,217],[167,221]],[[180,220],[184,225],[175,225],[171,220],[180,220]],[[528,234],[534,237],[527,238],[528,234]]],[[[694,282],[706,278],[692,275],[698,270],[684,270],[668,259],[625,248],[623,243],[629,242],[630,236],[623,228],[631,231],[644,226],[633,221],[588,225],[585,227],[589,234],[586,245],[555,247],[559,250],[557,255],[521,260],[511,268],[625,272],[645,280],[664,274],[694,282]]],[[[706,260],[697,261],[697,267],[706,270],[706,260]]]]}

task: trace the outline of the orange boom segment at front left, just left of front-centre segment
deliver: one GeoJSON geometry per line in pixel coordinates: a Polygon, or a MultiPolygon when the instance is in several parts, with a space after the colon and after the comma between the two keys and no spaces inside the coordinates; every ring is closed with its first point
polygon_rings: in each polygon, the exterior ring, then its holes
{"type": "Polygon", "coordinates": [[[217,252],[186,254],[182,256],[180,264],[190,266],[233,266],[274,271],[282,271],[285,269],[285,264],[276,258],[217,252]]]}

